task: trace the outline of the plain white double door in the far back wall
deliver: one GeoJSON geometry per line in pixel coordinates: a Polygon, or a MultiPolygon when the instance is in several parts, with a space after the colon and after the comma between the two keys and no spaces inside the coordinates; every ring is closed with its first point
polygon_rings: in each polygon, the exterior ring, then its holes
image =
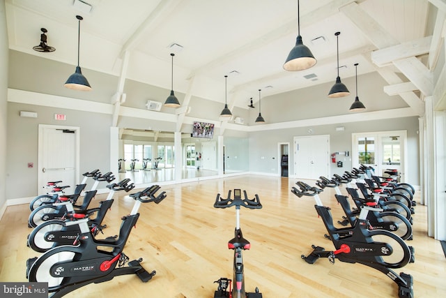
{"type": "Polygon", "coordinates": [[[330,135],[294,137],[294,176],[330,177],[330,135]]]}

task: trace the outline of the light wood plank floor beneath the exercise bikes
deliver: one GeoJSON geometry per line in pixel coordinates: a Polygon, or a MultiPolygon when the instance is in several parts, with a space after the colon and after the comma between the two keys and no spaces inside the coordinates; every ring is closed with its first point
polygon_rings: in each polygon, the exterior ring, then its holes
{"type": "MultiPolygon", "coordinates": [[[[314,185],[314,181],[308,181],[314,185]]],[[[301,254],[316,244],[332,250],[323,237],[325,227],[316,215],[312,198],[298,198],[290,189],[295,179],[244,175],[187,184],[162,186],[167,198],[160,204],[143,204],[137,227],[132,230],[126,255],[144,259],[143,265],[157,274],[148,283],[137,276],[117,276],[112,281],[92,284],[66,297],[213,297],[216,281],[231,278],[234,208],[215,209],[217,193],[242,188],[252,198],[259,194],[263,209],[240,211],[243,235],[251,241],[244,252],[247,291],[259,287],[266,298],[286,297],[397,297],[397,285],[384,274],[357,264],[320,259],[307,264],[301,254]]],[[[128,214],[133,201],[115,195],[115,204],[105,218],[109,228],[103,237],[116,234],[120,217],[128,214]]],[[[341,207],[334,192],[321,194],[323,204],[332,207],[334,220],[341,207]]],[[[95,198],[98,202],[102,196],[95,198]]],[[[8,207],[0,222],[0,281],[26,281],[26,259],[38,256],[26,247],[27,205],[8,207]]],[[[426,207],[415,207],[415,263],[395,270],[414,278],[415,297],[446,297],[446,260],[439,241],[426,236],[426,207]]]]}

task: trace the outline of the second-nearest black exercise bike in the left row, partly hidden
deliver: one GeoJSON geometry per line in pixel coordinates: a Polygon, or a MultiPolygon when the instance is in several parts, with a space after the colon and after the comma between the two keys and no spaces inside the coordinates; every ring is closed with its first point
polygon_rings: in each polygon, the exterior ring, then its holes
{"type": "MultiPolygon", "coordinates": [[[[89,218],[88,225],[93,236],[102,232],[102,229],[107,228],[107,225],[102,225],[102,221],[107,211],[112,207],[114,193],[117,191],[129,192],[134,188],[134,184],[130,183],[130,179],[127,178],[117,184],[109,184],[107,188],[110,190],[107,200],[100,202],[100,207],[86,211],[66,212],[61,219],[52,219],[41,223],[29,234],[28,246],[33,251],[45,253],[45,251],[49,251],[56,246],[72,244],[81,233],[79,225],[73,223],[73,221],[82,218],[89,218]],[[92,218],[93,214],[95,215],[94,218],[92,218]]],[[[160,187],[158,186],[158,188],[160,187]]],[[[147,188],[145,193],[150,194],[155,193],[155,191],[152,188],[147,188]]]]}

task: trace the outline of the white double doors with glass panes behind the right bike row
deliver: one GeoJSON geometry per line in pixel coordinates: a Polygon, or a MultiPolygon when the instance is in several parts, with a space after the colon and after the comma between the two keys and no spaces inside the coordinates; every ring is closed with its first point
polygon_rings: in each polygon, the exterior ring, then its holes
{"type": "Polygon", "coordinates": [[[353,133],[352,139],[353,167],[369,165],[378,176],[387,169],[398,170],[401,182],[406,181],[406,131],[353,133]]]}

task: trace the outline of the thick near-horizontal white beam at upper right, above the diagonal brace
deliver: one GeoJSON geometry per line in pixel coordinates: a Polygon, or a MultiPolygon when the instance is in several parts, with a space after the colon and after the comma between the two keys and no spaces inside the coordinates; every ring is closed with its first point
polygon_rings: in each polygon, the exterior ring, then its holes
{"type": "Polygon", "coordinates": [[[426,54],[431,47],[431,41],[432,36],[426,36],[417,40],[410,40],[407,43],[376,50],[371,53],[371,61],[377,66],[385,66],[395,60],[426,54]]]}

